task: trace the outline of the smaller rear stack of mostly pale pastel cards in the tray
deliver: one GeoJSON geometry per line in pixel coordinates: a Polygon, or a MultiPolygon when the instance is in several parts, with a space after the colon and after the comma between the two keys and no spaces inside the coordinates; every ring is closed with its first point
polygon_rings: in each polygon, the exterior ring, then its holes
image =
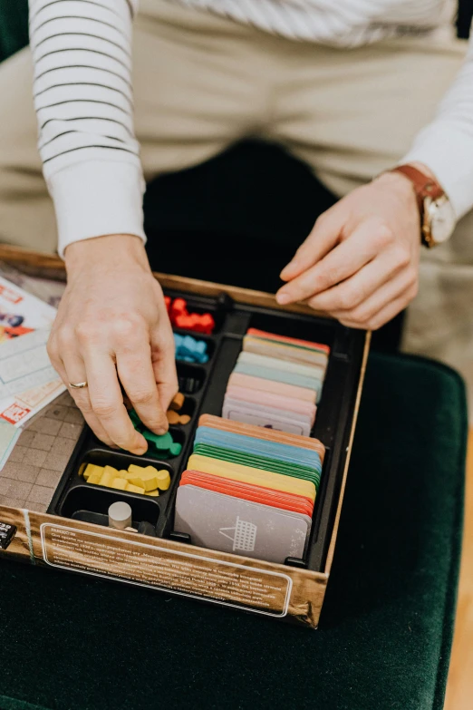
{"type": "Polygon", "coordinates": [[[330,348],[250,328],[230,375],[223,416],[309,436],[330,348]]]}

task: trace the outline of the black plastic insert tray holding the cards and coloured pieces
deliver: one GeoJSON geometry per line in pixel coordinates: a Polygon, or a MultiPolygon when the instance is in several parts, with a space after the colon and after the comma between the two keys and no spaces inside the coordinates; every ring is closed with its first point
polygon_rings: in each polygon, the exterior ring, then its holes
{"type": "Polygon", "coordinates": [[[329,345],[331,354],[327,367],[323,394],[317,407],[312,436],[326,447],[321,484],[314,508],[311,539],[304,559],[288,559],[286,564],[323,570],[333,528],[336,504],[343,480],[343,469],[350,440],[356,395],[358,391],[365,333],[345,328],[326,318],[306,316],[260,306],[236,304],[226,294],[221,297],[195,297],[186,293],[166,292],[171,297],[184,297],[188,309],[211,312],[217,328],[213,336],[201,336],[192,331],[177,331],[203,338],[209,343],[209,360],[205,365],[178,361],[179,385],[186,394],[185,411],[192,414],[185,426],[170,427],[175,441],[182,443],[179,456],[159,461],[148,456],[116,452],[99,442],[85,426],[63,477],[54,493],[48,512],[75,520],[89,520],[107,524],[106,513],[114,501],[128,501],[133,511],[133,525],[147,522],[156,535],[175,540],[186,540],[175,534],[174,502],[180,474],[186,469],[192,452],[194,432],[202,413],[220,415],[227,389],[227,381],[241,351],[243,336],[249,327],[256,327],[282,336],[291,336],[329,345]],[[79,475],[87,462],[109,463],[119,469],[130,463],[154,465],[169,471],[169,491],[158,498],[137,495],[128,491],[89,485],[79,475]]]}

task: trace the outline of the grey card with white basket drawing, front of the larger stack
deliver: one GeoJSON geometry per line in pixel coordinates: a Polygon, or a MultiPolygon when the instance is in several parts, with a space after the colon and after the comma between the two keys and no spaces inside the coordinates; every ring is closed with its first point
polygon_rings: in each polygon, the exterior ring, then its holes
{"type": "Polygon", "coordinates": [[[310,525],[300,513],[192,485],[178,489],[175,528],[199,547],[282,564],[304,556],[310,525]]]}

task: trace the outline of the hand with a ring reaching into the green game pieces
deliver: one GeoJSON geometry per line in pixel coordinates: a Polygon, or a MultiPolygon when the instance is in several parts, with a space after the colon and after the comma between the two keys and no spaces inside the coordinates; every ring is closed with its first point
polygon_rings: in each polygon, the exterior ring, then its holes
{"type": "Polygon", "coordinates": [[[168,430],[178,391],[174,338],[159,283],[140,238],[116,235],[71,244],[67,287],[48,353],[75,403],[102,442],[133,453],[148,444],[135,431],[124,392],[154,433],[168,430]],[[70,383],[87,382],[82,389],[70,383]]]}

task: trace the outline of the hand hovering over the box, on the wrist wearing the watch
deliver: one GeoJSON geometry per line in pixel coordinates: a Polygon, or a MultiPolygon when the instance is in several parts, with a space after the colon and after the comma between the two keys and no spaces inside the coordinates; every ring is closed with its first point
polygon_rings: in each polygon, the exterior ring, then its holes
{"type": "Polygon", "coordinates": [[[403,175],[386,173],[317,219],[281,272],[288,283],[276,299],[306,301],[344,326],[375,330],[416,296],[419,259],[413,187],[403,175]]]}

